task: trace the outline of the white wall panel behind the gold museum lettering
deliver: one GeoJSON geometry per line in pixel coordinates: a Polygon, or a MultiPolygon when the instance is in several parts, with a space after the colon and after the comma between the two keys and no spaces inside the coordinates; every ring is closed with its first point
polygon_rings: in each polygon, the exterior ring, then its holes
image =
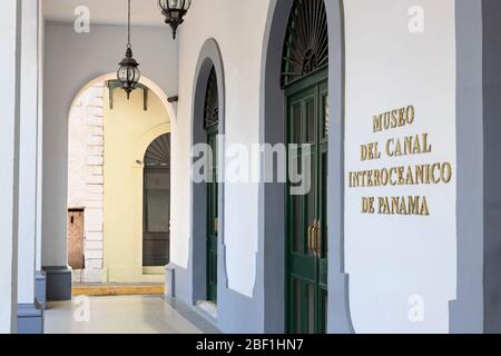
{"type": "Polygon", "coordinates": [[[456,286],[454,10],[453,0],[345,1],[345,178],[354,170],[435,161],[453,167],[449,185],[346,187],[345,261],[357,333],[449,330],[456,286]],[[416,4],[424,10],[423,33],[407,28],[416,4]],[[374,115],[409,105],[416,112],[412,126],[372,131],[374,115]],[[431,154],[360,161],[360,145],[424,132],[431,154]],[[364,215],[362,196],[426,196],[430,216],[364,215]],[[410,305],[412,296],[422,299],[410,305]],[[409,313],[421,301],[423,319],[413,323],[409,313]]]}

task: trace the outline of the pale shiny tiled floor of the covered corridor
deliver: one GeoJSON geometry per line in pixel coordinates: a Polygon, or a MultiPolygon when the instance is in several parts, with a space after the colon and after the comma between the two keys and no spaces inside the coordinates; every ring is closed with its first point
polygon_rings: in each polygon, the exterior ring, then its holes
{"type": "Polygon", "coordinates": [[[46,310],[45,328],[46,334],[217,333],[189,307],[179,305],[178,308],[160,296],[90,297],[51,303],[46,310]]]}

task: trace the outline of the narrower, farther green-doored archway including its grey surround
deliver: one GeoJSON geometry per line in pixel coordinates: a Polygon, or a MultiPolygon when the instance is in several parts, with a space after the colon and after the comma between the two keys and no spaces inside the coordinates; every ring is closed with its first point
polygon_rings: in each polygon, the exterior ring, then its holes
{"type": "MultiPolygon", "coordinates": [[[[193,147],[203,145],[212,155],[194,157],[194,167],[199,159],[205,161],[202,182],[191,182],[191,268],[190,298],[193,304],[208,312],[216,323],[217,304],[224,303],[226,287],[224,258],[224,179],[217,175],[224,161],[218,161],[225,132],[224,70],[219,47],[214,39],[200,49],[195,72],[193,107],[193,147]],[[202,222],[202,224],[200,224],[202,222]]],[[[179,270],[178,270],[179,271],[179,270]]],[[[178,273],[177,271],[177,273],[178,273]]],[[[176,274],[177,274],[176,273],[176,274]]],[[[181,278],[176,278],[176,288],[185,289],[181,278]]],[[[189,289],[188,289],[189,290],[189,289]]]]}

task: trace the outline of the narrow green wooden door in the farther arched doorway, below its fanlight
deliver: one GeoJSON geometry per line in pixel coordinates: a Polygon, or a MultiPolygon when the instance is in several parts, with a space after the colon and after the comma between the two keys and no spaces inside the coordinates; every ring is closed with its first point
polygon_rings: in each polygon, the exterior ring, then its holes
{"type": "Polygon", "coordinates": [[[207,142],[213,151],[212,181],[207,182],[207,300],[217,304],[217,126],[207,129],[207,142]]]}

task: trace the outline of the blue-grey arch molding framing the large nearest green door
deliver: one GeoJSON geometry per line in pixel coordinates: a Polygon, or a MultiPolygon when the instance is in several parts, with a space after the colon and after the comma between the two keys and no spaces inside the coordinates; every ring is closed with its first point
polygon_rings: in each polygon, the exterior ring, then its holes
{"type": "MultiPolygon", "coordinates": [[[[281,88],[285,33],[294,0],[273,0],[263,43],[259,141],[283,144],[285,95],[281,88]]],[[[342,0],[325,0],[328,24],[328,316],[327,332],[353,333],[348,276],[344,273],[344,11],[342,0]]],[[[264,171],[265,167],[262,166],[264,171]]],[[[285,187],[259,185],[257,281],[263,285],[265,333],[285,330],[285,187]]],[[[258,285],[256,284],[256,285],[258,285]]]]}

